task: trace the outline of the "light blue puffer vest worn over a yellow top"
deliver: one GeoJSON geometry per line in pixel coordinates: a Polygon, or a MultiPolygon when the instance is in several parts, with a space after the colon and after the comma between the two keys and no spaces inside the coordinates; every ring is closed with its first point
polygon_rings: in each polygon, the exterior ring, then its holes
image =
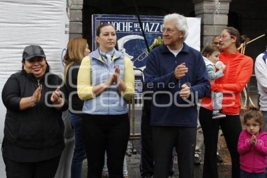
{"type": "MultiPolygon", "coordinates": [[[[91,86],[96,86],[106,82],[114,73],[118,65],[120,69],[120,78],[124,78],[124,55],[115,50],[112,62],[104,63],[101,60],[99,48],[89,54],[91,60],[91,86]]],[[[128,113],[127,102],[118,93],[118,89],[113,83],[104,92],[95,98],[85,100],[83,112],[96,115],[119,115],[128,113]]]]}

